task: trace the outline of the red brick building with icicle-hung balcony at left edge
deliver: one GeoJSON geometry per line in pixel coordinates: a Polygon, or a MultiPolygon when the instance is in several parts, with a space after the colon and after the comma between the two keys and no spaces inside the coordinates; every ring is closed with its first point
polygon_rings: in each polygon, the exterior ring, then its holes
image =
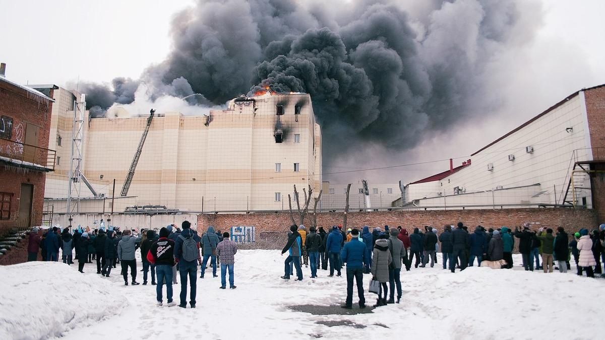
{"type": "Polygon", "coordinates": [[[0,235],[42,224],[46,174],[55,162],[50,97],[0,74],[0,235]]]}

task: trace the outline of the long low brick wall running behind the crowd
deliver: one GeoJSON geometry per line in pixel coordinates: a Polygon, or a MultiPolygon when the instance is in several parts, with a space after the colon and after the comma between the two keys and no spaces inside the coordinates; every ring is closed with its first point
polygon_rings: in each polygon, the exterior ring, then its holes
{"type": "MultiPolygon", "coordinates": [[[[342,224],[342,212],[318,214],[318,226],[342,224]]],[[[310,218],[305,219],[307,226],[310,218]]],[[[563,226],[567,232],[576,232],[581,227],[597,227],[597,214],[592,209],[534,208],[534,209],[485,209],[485,210],[447,210],[447,211],[381,211],[349,212],[348,227],[368,225],[402,226],[412,231],[413,227],[435,226],[442,230],[444,224],[456,224],[462,221],[467,226],[482,225],[486,228],[502,226],[521,226],[523,223],[540,223],[539,226],[555,229],[563,226]]],[[[231,226],[255,226],[257,238],[264,232],[286,232],[291,224],[288,212],[263,214],[200,214],[197,217],[198,229],[208,226],[229,230],[231,226]]]]}

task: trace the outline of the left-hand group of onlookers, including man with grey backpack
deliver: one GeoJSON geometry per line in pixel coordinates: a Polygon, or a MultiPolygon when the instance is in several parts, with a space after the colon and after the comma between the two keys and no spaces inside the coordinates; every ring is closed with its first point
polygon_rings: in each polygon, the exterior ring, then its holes
{"type": "Polygon", "coordinates": [[[58,261],[59,250],[62,261],[73,264],[73,255],[78,262],[78,270],[83,273],[86,263],[96,261],[97,274],[110,277],[111,269],[120,264],[120,275],[125,286],[137,286],[136,252],[140,250],[143,264],[143,285],[148,284],[151,271],[151,285],[157,286],[157,305],[163,303],[163,286],[166,286],[168,306],[175,306],[172,301],[172,284],[178,284],[177,272],[181,280],[179,307],[187,306],[189,282],[189,305],[195,308],[197,288],[197,267],[201,266],[200,278],[204,278],[206,265],[211,260],[212,276],[218,277],[217,266],[221,269],[220,289],[226,289],[226,273],[229,273],[229,288],[234,284],[234,255],[237,244],[231,241],[229,233],[214,231],[213,227],[198,235],[191,229],[189,221],[183,221],[181,228],[174,224],[162,227],[159,233],[154,230],[141,230],[133,235],[134,230],[120,230],[119,227],[104,227],[90,230],[78,227],[70,232],[69,228],[60,230],[57,227],[45,230],[42,235],[38,228],[28,233],[28,261],[36,261],[41,253],[42,261],[58,261]],[[85,231],[87,230],[87,231],[85,231]]]}

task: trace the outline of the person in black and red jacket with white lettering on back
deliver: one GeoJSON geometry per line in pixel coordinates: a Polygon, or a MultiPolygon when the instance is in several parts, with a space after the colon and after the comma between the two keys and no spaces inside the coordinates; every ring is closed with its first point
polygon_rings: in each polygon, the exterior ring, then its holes
{"type": "Polygon", "coordinates": [[[155,264],[155,275],[157,276],[157,286],[155,293],[157,295],[157,306],[162,306],[162,290],[164,281],[166,281],[166,298],[168,298],[168,307],[175,306],[172,301],[172,266],[174,266],[174,241],[168,238],[168,229],[160,229],[160,238],[151,245],[147,253],[147,261],[155,264]],[[166,279],[166,280],[164,280],[166,279]]]}

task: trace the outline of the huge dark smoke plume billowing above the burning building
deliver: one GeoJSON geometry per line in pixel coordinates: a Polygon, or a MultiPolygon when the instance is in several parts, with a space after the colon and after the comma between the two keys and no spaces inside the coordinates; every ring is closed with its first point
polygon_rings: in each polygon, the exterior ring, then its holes
{"type": "MultiPolygon", "coordinates": [[[[499,52],[533,32],[521,1],[407,2],[199,1],[174,17],[174,50],[140,81],[205,105],[266,86],[309,93],[325,164],[369,145],[409,149],[488,114],[499,52]]],[[[138,83],[83,92],[102,113],[132,101],[138,83]]]]}

